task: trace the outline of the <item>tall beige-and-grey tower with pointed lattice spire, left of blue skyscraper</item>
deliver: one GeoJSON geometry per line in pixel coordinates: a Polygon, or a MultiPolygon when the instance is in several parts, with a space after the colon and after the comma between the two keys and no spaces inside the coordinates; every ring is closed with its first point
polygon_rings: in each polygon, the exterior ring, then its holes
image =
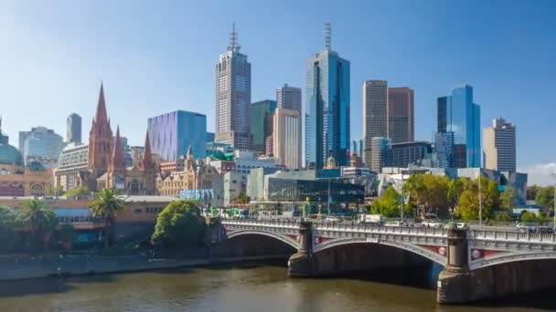
{"type": "Polygon", "coordinates": [[[230,46],[216,64],[216,142],[247,150],[251,149],[251,63],[240,48],[232,24],[230,46]]]}

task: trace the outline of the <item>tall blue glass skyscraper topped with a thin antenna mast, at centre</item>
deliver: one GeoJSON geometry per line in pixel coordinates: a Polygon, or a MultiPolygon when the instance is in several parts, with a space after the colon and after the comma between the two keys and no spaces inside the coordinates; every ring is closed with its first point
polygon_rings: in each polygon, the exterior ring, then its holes
{"type": "Polygon", "coordinates": [[[323,168],[329,156],[349,163],[349,61],[331,49],[330,24],[326,46],[307,62],[305,90],[305,165],[323,168]]]}

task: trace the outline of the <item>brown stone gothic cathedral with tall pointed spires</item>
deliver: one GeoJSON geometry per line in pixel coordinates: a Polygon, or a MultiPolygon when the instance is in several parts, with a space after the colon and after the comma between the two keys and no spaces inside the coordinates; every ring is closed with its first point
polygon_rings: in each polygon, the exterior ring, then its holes
{"type": "Polygon", "coordinates": [[[70,146],[62,151],[55,183],[65,191],[85,186],[91,191],[115,188],[128,195],[153,195],[156,192],[157,173],[148,133],[141,159],[131,167],[125,165],[120,129],[118,127],[114,137],[101,85],[99,102],[89,133],[89,145],[70,146]],[[73,155],[77,150],[83,157],[73,155]],[[83,160],[85,153],[87,161],[83,160]]]}

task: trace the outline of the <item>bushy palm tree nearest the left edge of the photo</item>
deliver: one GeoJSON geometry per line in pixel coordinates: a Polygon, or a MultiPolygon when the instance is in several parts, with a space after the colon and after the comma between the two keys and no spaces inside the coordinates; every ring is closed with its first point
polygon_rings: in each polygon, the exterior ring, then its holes
{"type": "Polygon", "coordinates": [[[35,237],[37,248],[44,234],[53,231],[58,226],[56,214],[48,209],[43,201],[37,199],[31,199],[25,203],[19,211],[18,217],[19,222],[27,227],[35,237]]]}

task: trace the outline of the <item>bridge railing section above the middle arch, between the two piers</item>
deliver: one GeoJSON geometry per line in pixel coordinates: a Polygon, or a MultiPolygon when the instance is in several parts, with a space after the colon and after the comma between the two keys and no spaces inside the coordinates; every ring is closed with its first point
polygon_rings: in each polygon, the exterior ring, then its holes
{"type": "Polygon", "coordinates": [[[446,236],[444,228],[417,227],[417,226],[380,226],[370,224],[316,224],[316,230],[343,231],[343,232],[371,232],[385,234],[419,234],[446,236]]]}

